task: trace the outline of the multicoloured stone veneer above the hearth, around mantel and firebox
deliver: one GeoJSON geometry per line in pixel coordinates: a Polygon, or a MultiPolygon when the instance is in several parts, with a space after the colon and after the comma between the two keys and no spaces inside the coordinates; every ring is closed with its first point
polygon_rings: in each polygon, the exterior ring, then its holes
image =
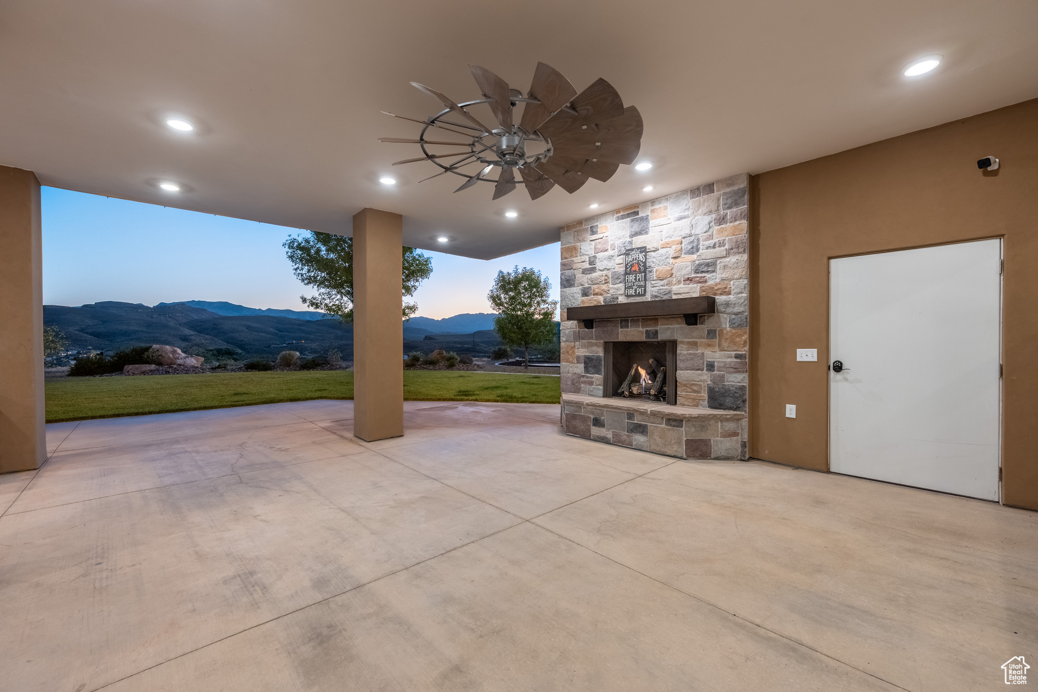
{"type": "MultiPolygon", "coordinates": [[[[708,183],[562,229],[562,388],[602,395],[602,342],[678,340],[678,405],[746,411],[748,385],[748,175],[708,183]],[[624,251],[648,249],[647,296],[624,296],[624,251]],[[600,320],[594,330],[566,309],[630,301],[715,296],[699,326],[681,315],[600,320]]],[[[745,458],[745,420],[741,423],[745,458]]]]}

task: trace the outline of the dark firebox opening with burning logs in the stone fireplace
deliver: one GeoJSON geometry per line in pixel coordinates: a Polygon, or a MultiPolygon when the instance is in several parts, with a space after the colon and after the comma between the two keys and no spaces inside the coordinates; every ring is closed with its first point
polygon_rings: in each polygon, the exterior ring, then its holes
{"type": "Polygon", "coordinates": [[[602,396],[677,405],[677,341],[605,341],[602,345],[602,396]]]}

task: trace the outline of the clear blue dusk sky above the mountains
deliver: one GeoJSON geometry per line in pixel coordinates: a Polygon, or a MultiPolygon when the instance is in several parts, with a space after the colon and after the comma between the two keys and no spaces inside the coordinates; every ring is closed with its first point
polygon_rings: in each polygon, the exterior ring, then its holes
{"type": "MultiPolygon", "coordinates": [[[[297,228],[43,189],[44,304],[99,301],[228,301],[248,307],[308,309],[312,290],[292,273],[281,243],[297,228]]],[[[532,267],[558,300],[558,244],[499,259],[433,258],[415,294],[418,314],[490,312],[487,292],[498,270],[532,267]]]]}

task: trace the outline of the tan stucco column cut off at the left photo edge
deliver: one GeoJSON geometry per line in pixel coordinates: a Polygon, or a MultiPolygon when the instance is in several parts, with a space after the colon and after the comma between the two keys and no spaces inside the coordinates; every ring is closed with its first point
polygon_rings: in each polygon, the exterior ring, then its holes
{"type": "Polygon", "coordinates": [[[39,181],[6,166],[0,166],[0,473],[37,469],[47,458],[39,181]]]}

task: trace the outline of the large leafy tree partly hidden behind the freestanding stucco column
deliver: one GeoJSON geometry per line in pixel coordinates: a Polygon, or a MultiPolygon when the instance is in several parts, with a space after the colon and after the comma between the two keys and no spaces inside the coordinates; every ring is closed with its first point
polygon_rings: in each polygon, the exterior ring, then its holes
{"type": "MultiPolygon", "coordinates": [[[[290,238],[283,244],[296,278],[317,288],[311,298],[300,296],[305,305],[353,322],[353,239],[310,231],[290,238]]],[[[405,247],[404,296],[410,298],[433,273],[432,257],[405,247]]],[[[416,303],[404,303],[404,319],[418,311],[416,303]]]]}

